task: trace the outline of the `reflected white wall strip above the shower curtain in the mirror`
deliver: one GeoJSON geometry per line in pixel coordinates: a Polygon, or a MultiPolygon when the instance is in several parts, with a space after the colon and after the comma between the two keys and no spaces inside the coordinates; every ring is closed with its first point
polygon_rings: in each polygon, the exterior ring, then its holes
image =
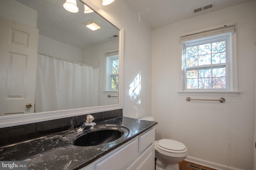
{"type": "Polygon", "coordinates": [[[77,63],[81,63],[82,61],[82,49],[42,35],[38,36],[38,52],[77,63]]]}

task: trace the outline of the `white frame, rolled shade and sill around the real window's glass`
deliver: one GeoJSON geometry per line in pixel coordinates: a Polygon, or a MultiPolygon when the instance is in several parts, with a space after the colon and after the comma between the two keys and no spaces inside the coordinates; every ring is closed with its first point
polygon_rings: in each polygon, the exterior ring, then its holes
{"type": "MultiPolygon", "coordinates": [[[[228,27],[228,30],[210,29],[200,33],[185,35],[180,38],[180,46],[182,51],[181,76],[179,95],[192,96],[238,96],[238,73],[237,73],[237,47],[236,47],[236,32],[234,26],[228,27]],[[226,89],[187,89],[186,88],[186,61],[185,50],[186,46],[196,44],[209,43],[220,39],[227,39],[226,43],[226,89]]],[[[207,66],[207,65],[206,65],[207,66]]],[[[200,66],[198,66],[200,67],[200,66]]]]}

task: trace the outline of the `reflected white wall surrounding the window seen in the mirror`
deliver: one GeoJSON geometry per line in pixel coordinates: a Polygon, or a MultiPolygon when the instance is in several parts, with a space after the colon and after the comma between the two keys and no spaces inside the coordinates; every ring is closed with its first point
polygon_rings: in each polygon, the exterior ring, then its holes
{"type": "Polygon", "coordinates": [[[106,106],[118,104],[117,98],[108,98],[108,94],[111,96],[117,96],[117,92],[104,92],[105,91],[105,53],[118,51],[119,40],[110,41],[108,43],[103,43],[100,45],[95,45],[83,49],[82,51],[82,63],[91,65],[94,67],[99,67],[99,98],[98,106],[106,106]]]}

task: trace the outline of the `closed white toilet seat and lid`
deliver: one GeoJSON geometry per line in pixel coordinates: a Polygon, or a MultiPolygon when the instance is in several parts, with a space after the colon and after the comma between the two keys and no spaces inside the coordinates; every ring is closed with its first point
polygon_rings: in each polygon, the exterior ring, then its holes
{"type": "Polygon", "coordinates": [[[170,153],[185,153],[188,150],[183,143],[171,139],[161,139],[156,143],[156,147],[170,153]]]}

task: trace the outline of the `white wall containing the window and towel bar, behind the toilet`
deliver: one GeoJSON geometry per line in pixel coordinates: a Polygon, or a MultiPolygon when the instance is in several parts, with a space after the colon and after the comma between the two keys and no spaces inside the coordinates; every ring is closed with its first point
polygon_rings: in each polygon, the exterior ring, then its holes
{"type": "MultiPolygon", "coordinates": [[[[188,147],[188,160],[217,169],[252,170],[255,113],[256,1],[152,30],[152,116],[156,138],[178,140],[188,147]],[[179,96],[179,36],[234,23],[238,42],[241,93],[226,102],[186,102],[179,96]],[[210,161],[210,162],[208,162],[210,161]],[[219,164],[219,165],[218,165],[219,164]]],[[[218,98],[218,96],[190,96],[218,98]]]]}

